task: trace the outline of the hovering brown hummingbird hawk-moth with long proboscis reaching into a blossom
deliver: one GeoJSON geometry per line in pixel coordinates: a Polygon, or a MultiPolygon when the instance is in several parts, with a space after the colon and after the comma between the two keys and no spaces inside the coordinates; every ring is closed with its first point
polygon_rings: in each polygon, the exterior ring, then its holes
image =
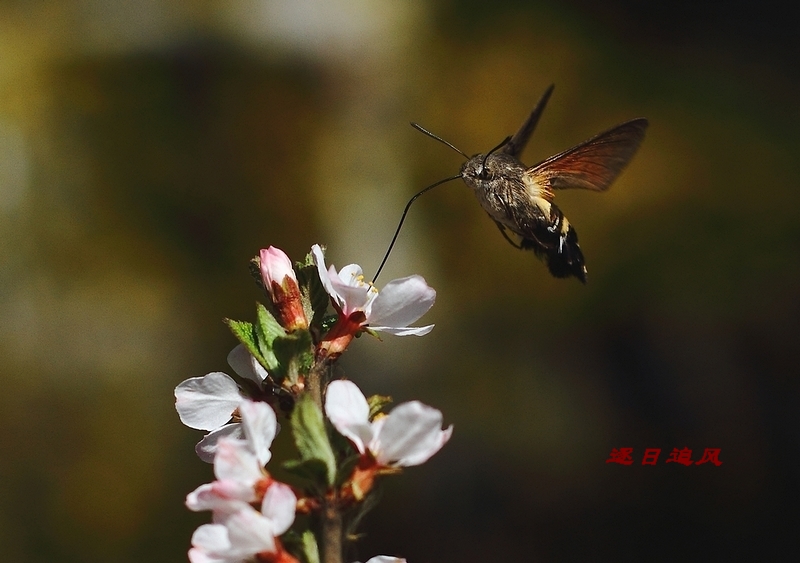
{"type": "MultiPolygon", "coordinates": [[[[513,136],[507,137],[489,152],[472,157],[412,123],[413,127],[446,144],[467,161],[461,166],[461,172],[457,176],[436,182],[411,198],[389,245],[389,251],[411,203],[429,189],[461,178],[475,192],[481,207],[508,242],[516,248],[532,250],[545,262],[553,276],[574,276],[586,283],[586,266],[578,246],[578,234],[553,203],[554,190],[583,188],[601,192],[608,189],[639,148],[647,129],[647,120],[639,118],[626,121],[534,166],[525,166],[519,160],[520,154],[536,128],[552,92],[553,85],[544,92],[513,136]],[[512,240],[507,231],[519,237],[519,242],[512,240]]],[[[378,268],[378,273],[385,261],[386,257],[378,268]]],[[[375,278],[377,277],[376,274],[375,278]]]]}

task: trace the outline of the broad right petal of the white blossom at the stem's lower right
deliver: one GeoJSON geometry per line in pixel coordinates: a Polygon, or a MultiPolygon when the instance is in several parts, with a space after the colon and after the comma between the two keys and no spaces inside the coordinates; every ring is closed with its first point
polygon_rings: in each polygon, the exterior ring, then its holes
{"type": "Polygon", "coordinates": [[[450,439],[451,426],[442,430],[442,413],[419,401],[398,405],[370,444],[382,465],[410,467],[427,461],[450,439]]]}

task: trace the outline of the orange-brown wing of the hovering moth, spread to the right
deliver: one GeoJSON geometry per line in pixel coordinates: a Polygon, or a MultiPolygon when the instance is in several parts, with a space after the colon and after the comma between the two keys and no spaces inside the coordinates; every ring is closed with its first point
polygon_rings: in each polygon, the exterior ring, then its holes
{"type": "Polygon", "coordinates": [[[626,121],[527,170],[541,186],[602,192],[630,162],[644,139],[647,120],[626,121]]]}

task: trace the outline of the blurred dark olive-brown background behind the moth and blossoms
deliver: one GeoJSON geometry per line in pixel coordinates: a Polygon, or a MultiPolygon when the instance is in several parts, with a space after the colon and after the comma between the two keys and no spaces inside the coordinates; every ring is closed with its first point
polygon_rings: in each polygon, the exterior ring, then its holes
{"type": "Polygon", "coordinates": [[[351,560],[793,560],[795,10],[0,3],[0,559],[186,560],[212,473],[172,391],[227,369],[221,319],[262,298],[248,260],[318,242],[371,275],[408,198],[461,165],[408,122],[486,151],[555,83],[527,164],[651,124],[610,191],[558,194],[589,283],[512,248],[461,182],[418,200],[378,285],[422,274],[436,328],[341,365],[455,434],[387,483],[351,560]],[[634,464],[606,464],[622,447],[634,464]],[[723,465],[664,463],[684,447],[723,465]]]}

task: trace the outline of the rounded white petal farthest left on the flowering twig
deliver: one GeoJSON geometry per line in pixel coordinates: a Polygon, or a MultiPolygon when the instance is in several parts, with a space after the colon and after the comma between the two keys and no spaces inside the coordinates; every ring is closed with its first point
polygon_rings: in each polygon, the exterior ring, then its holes
{"type": "Polygon", "coordinates": [[[175,388],[181,422],[197,430],[214,430],[228,422],[241,400],[236,382],[221,371],[192,377],[175,388]]]}

